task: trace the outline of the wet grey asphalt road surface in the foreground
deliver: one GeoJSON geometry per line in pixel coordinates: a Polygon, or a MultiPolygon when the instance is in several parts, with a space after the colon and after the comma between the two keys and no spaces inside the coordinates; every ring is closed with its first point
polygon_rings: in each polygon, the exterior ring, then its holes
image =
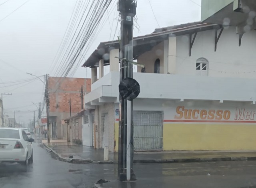
{"type": "Polygon", "coordinates": [[[54,160],[34,143],[34,164],[0,165],[0,188],[256,188],[256,161],[135,164],[138,180],[116,181],[116,164],[70,164],[54,160]],[[210,174],[210,175],[208,175],[210,174]]]}

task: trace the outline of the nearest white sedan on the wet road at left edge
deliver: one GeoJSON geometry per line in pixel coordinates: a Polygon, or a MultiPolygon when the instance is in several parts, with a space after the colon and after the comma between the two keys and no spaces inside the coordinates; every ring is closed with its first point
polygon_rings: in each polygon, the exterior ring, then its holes
{"type": "Polygon", "coordinates": [[[29,139],[22,128],[0,128],[0,163],[33,163],[34,139],[29,139]]]}

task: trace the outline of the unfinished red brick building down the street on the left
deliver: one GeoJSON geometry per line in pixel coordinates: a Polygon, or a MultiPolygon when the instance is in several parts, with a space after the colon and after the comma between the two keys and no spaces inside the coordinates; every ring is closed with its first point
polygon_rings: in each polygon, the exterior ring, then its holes
{"type": "MultiPolygon", "coordinates": [[[[50,137],[55,139],[67,139],[66,123],[62,126],[62,120],[76,115],[82,111],[82,98],[84,94],[91,91],[91,79],[85,78],[64,78],[49,77],[48,88],[50,97],[49,121],[50,121],[50,137]],[[83,96],[81,95],[81,87],[83,87],[83,96]]],[[[84,102],[83,102],[84,106],[84,102]]]]}

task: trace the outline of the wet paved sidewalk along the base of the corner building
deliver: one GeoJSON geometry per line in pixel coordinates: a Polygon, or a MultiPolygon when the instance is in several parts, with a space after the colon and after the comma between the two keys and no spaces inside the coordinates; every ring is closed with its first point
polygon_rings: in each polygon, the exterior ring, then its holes
{"type": "MultiPolygon", "coordinates": [[[[60,158],[72,158],[80,163],[116,163],[118,153],[109,152],[109,161],[104,162],[104,149],[94,149],[63,140],[42,141],[47,148],[54,151],[60,158]]],[[[62,159],[63,160],[63,159],[62,159]]],[[[134,163],[164,163],[164,162],[203,162],[203,161],[230,161],[256,160],[256,150],[222,150],[222,151],[134,151],[134,163]]]]}

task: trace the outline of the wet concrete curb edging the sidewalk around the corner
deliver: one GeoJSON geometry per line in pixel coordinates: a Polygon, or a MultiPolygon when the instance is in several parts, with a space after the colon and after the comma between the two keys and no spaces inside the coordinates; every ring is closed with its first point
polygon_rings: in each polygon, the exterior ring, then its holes
{"type": "MultiPolygon", "coordinates": [[[[117,161],[94,161],[90,159],[76,159],[76,158],[64,158],[60,156],[58,153],[56,153],[52,148],[47,146],[46,144],[40,144],[40,147],[47,150],[51,157],[62,161],[62,162],[69,162],[73,164],[117,164],[117,161]]],[[[143,159],[143,160],[134,160],[134,164],[154,164],[154,163],[186,163],[186,162],[218,162],[218,161],[245,161],[245,160],[256,160],[255,157],[215,157],[215,158],[182,158],[182,159],[143,159]]]]}

